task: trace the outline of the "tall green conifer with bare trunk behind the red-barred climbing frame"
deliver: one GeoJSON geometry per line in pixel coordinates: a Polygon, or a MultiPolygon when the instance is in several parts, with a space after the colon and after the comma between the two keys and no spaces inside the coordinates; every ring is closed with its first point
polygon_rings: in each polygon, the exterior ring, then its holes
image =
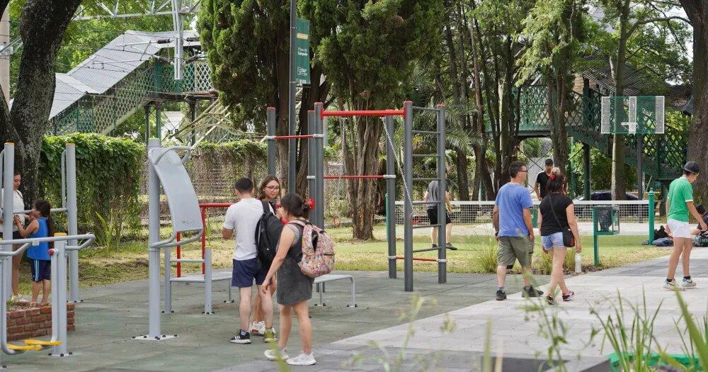
{"type": "MultiPolygon", "coordinates": [[[[440,1],[303,1],[331,19],[330,35],[316,54],[332,83],[338,106],[355,110],[401,106],[413,64],[429,57],[440,42],[440,1]]],[[[343,144],[348,174],[375,174],[382,123],[357,118],[343,144]]],[[[411,187],[411,186],[409,186],[411,187]]],[[[372,239],[376,187],[371,180],[348,180],[353,205],[353,237],[372,239]]]]}

